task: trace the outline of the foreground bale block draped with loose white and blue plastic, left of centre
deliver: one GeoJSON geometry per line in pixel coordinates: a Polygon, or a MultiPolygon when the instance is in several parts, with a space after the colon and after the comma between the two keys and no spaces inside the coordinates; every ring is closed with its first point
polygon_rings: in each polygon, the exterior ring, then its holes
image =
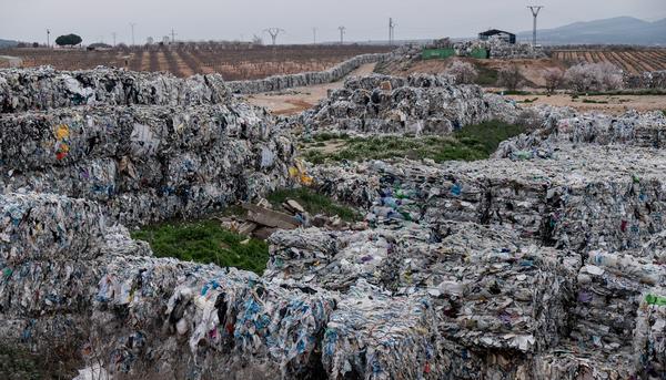
{"type": "Polygon", "coordinates": [[[105,267],[93,319],[94,351],[111,352],[110,372],[175,377],[297,377],[319,361],[335,298],[256,275],[180,263],[118,257],[105,267]],[[142,363],[159,362],[142,372],[142,363]]]}

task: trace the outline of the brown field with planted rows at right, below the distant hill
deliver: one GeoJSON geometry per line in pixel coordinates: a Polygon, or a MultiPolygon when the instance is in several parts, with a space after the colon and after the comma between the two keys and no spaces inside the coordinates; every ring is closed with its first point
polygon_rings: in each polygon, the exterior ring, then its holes
{"type": "Polygon", "coordinates": [[[632,74],[666,70],[666,49],[619,50],[553,50],[552,58],[567,65],[578,62],[610,62],[632,74]]]}

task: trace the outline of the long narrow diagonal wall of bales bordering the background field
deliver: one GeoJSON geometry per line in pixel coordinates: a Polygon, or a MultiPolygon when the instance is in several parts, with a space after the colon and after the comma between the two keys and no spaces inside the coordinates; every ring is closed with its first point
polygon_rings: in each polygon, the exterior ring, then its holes
{"type": "Polygon", "coordinates": [[[389,54],[362,54],[349,59],[325,71],[300,74],[273,75],[254,81],[232,81],[226,85],[234,94],[256,94],[261,92],[283,91],[286,89],[332,83],[349,75],[363,64],[382,62],[389,54]]]}

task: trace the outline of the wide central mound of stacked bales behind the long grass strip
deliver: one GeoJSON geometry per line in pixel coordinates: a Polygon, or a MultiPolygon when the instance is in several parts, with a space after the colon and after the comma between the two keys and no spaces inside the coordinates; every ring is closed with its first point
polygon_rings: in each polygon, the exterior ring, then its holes
{"type": "Polygon", "coordinates": [[[490,120],[514,122],[515,104],[447,76],[387,75],[350,79],[299,120],[307,131],[445,134],[490,120]]]}

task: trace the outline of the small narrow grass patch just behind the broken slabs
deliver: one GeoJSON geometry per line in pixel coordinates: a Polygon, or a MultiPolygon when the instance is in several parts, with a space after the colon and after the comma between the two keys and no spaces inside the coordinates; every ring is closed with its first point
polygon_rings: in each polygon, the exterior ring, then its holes
{"type": "Polygon", "coordinates": [[[270,194],[266,199],[275,208],[280,208],[282,203],[286,199],[294,199],[311,215],[337,215],[345,222],[356,222],[362,219],[362,216],[355,209],[341,205],[330,197],[306,187],[280,189],[270,194]]]}

